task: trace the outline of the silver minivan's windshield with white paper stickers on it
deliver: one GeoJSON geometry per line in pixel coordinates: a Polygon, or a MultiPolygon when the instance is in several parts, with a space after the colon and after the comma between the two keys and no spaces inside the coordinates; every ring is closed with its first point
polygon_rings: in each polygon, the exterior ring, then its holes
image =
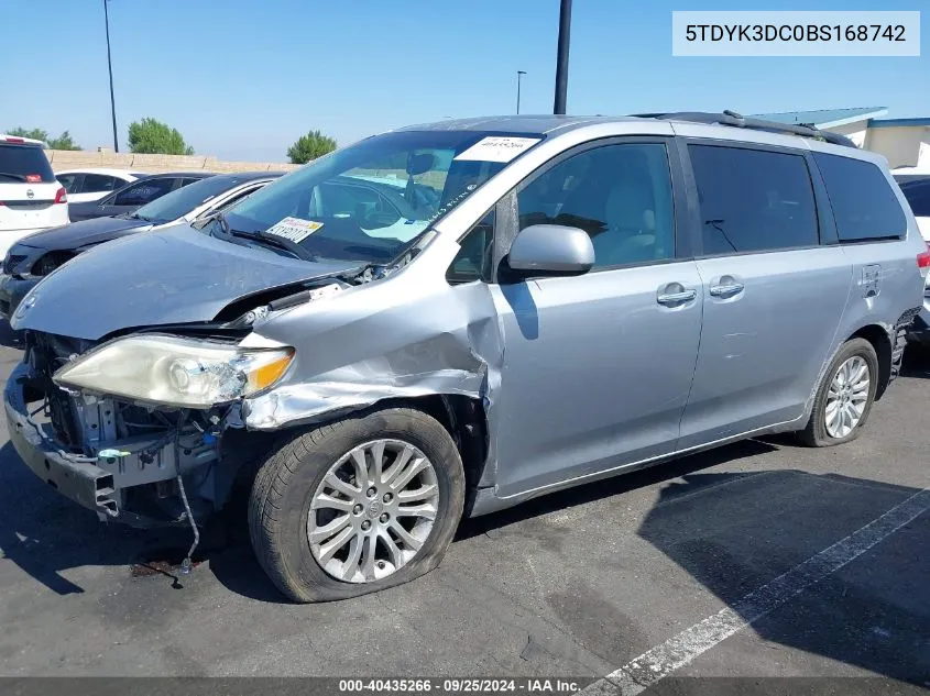
{"type": "Polygon", "coordinates": [[[232,232],[277,235],[320,258],[385,263],[539,135],[404,131],[314,162],[227,212],[232,232]]]}

